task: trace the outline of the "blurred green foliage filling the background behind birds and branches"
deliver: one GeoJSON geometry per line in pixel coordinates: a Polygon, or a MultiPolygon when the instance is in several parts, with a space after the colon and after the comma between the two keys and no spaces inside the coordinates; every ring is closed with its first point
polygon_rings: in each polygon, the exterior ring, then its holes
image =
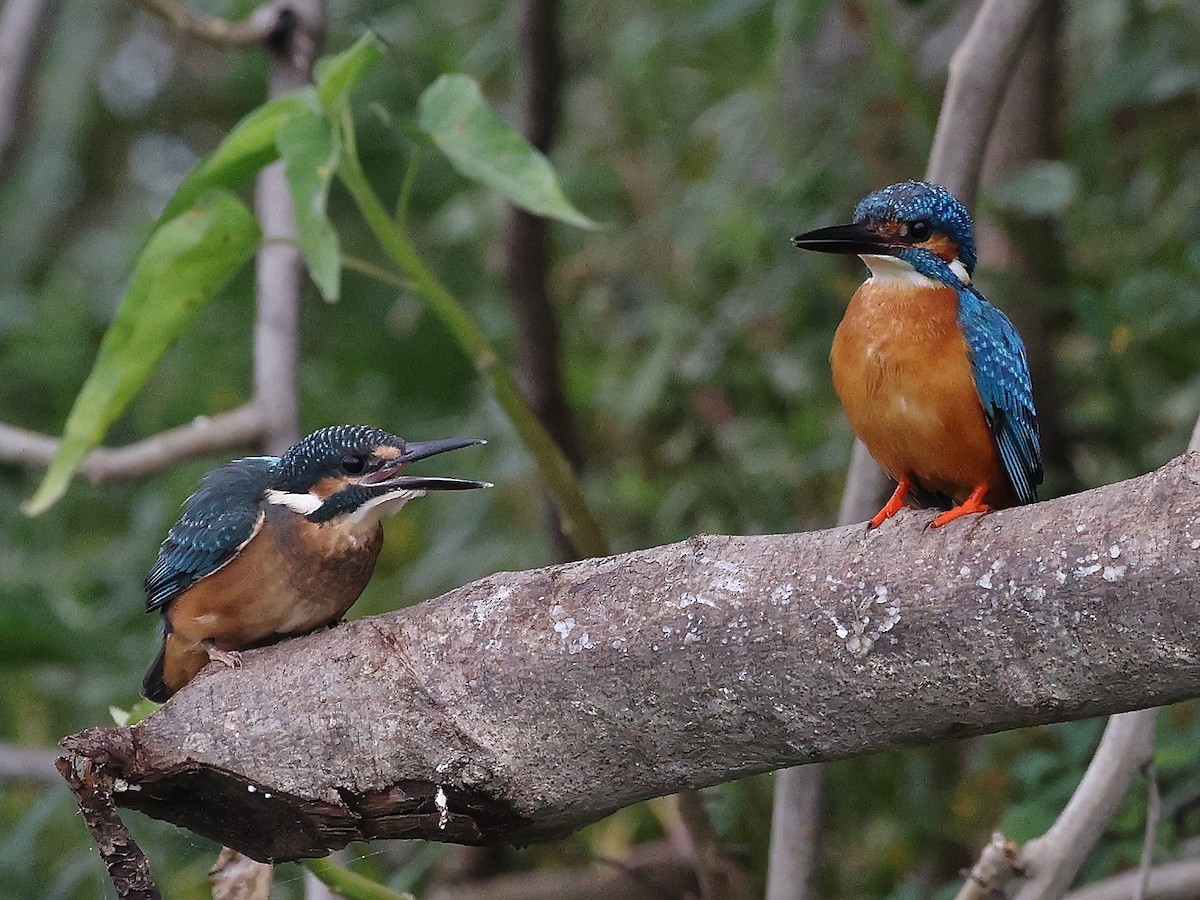
{"type": "MultiPolygon", "coordinates": [[[[234,18],[236,2],[194,7],[234,18]]],[[[0,419],[56,433],[112,320],[132,260],[182,174],[264,95],[253,52],[185,46],[116,0],[66,0],[37,83],[24,151],[0,185],[0,419]]],[[[400,193],[415,116],[439,74],[479,79],[512,121],[517,8],[496,0],[331,4],[329,46],[370,26],[388,46],[356,109],[360,154],[400,193]],[[386,113],[386,115],[382,114],[386,113]]],[[[554,162],[599,232],[556,227],[568,395],[589,500],[617,548],[698,532],[833,521],[851,434],[827,354],[860,272],[802,258],[787,238],[842,221],[869,190],[924,170],[948,53],[964,13],[944,2],[589,2],[564,10],[568,84],[554,162]]],[[[985,188],[980,209],[1020,242],[1050,216],[1066,251],[1054,290],[982,272],[992,299],[1052,324],[1066,467],[1051,496],[1152,468],[1187,443],[1200,407],[1200,13],[1187,2],[1104,0],[1062,22],[1062,152],[985,188]]],[[[342,248],[382,264],[335,186],[342,248]]],[[[421,251],[506,359],[499,277],[505,209],[424,154],[407,210],[421,251]]],[[[124,443],[228,409],[250,389],[252,284],[204,310],[114,426],[124,443]]],[[[306,428],[356,420],[414,438],[484,434],[460,474],[496,491],[412,504],[389,524],[355,614],[418,601],[498,569],[548,562],[532,463],[472,365],[416,298],[346,271],[342,301],[305,313],[306,428]]],[[[52,746],[127,707],[155,646],[140,583],[179,503],[211,461],[138,482],[73,484],[23,517],[40,472],[0,468],[0,737],[52,746]]],[[[1099,733],[1080,722],[835,763],[822,893],[932,898],[986,835],[1042,830],[1099,733]]],[[[1162,716],[1162,853],[1200,833],[1200,714],[1162,716]]],[[[1129,865],[1135,787],[1087,875],[1129,865]]],[[[769,779],[709,792],[721,834],[761,882],[769,779]]],[[[215,847],[130,815],[170,898],[206,896],[215,847]]],[[[644,808],[521,869],[616,857],[661,835],[644,808]]],[[[354,847],[352,865],[420,890],[442,848],[354,847]],[[358,858],[361,857],[361,858],[358,858]]],[[[0,896],[106,889],[65,788],[0,788],[0,896]]],[[[300,895],[281,868],[278,896],[300,895]]]]}

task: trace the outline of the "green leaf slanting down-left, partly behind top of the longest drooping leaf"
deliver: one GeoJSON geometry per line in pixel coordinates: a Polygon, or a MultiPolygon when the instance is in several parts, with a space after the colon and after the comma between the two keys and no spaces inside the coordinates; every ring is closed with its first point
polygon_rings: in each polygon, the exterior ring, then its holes
{"type": "Polygon", "coordinates": [[[200,160],[184,178],[158,218],[158,224],[178,216],[210,188],[232,190],[250,181],[259,169],[278,158],[275,136],[283,122],[293,113],[314,106],[310,88],[272,100],[242,116],[217,149],[200,160]]]}

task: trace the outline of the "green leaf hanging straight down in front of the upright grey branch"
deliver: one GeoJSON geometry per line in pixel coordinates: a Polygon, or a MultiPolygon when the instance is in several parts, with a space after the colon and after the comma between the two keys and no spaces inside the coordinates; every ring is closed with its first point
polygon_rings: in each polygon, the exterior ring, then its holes
{"type": "Polygon", "coordinates": [[[341,244],[326,212],[329,184],[341,157],[334,126],[324,115],[296,112],[282,125],[275,140],[287,166],[308,274],[325,300],[337,300],[342,277],[341,244]]]}

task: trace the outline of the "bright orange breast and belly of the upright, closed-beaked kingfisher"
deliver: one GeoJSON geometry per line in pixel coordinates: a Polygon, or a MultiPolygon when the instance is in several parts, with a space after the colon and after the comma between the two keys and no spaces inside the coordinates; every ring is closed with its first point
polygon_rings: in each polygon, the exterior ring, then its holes
{"type": "Polygon", "coordinates": [[[829,354],[846,418],[892,478],[916,478],[956,503],[1015,502],[984,419],[952,288],[864,283],[829,354]]]}

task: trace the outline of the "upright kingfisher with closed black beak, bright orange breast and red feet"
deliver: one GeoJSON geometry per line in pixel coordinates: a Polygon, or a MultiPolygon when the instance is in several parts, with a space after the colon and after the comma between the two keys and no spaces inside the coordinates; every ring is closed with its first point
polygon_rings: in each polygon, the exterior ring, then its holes
{"type": "Polygon", "coordinates": [[[952,500],[934,527],[1037,500],[1042,445],[1025,346],[971,283],[971,215],[948,190],[901,181],[869,194],[851,224],[805,232],[800,250],[857,253],[854,292],[829,361],[846,418],[895,492],[952,500]]]}

